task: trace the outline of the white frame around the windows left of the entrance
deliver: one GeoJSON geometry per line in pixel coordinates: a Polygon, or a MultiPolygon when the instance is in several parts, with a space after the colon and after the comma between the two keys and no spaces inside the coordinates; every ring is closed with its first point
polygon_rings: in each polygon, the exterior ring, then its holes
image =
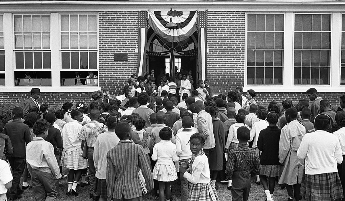
{"type": "MultiPolygon", "coordinates": [[[[16,13],[16,12],[4,12],[3,13],[3,26],[4,29],[4,50],[5,50],[5,86],[0,86],[1,92],[29,92],[31,88],[38,87],[41,92],[92,92],[100,90],[98,86],[60,86],[60,14],[71,14],[64,12],[39,12],[30,14],[49,14],[50,15],[50,69],[30,69],[31,71],[51,71],[52,80],[51,86],[14,86],[14,71],[27,71],[28,69],[16,69],[15,64],[15,46],[14,46],[14,14],[27,14],[27,13],[16,13]],[[53,40],[54,39],[54,40],[53,40]],[[56,40],[58,39],[58,40],[56,40]]],[[[73,13],[74,14],[74,13],[73,13]]],[[[84,14],[84,13],[76,13],[84,14]]],[[[97,21],[97,69],[99,73],[99,27],[98,27],[98,12],[92,12],[88,14],[96,14],[97,21]]],[[[75,70],[75,69],[72,69],[75,70]]],[[[87,69],[90,70],[90,69],[87,69]]],[[[1,73],[1,71],[0,71],[1,73]]],[[[99,76],[98,76],[99,77],[99,76]]],[[[99,82],[98,82],[99,83],[99,82]]]]}

